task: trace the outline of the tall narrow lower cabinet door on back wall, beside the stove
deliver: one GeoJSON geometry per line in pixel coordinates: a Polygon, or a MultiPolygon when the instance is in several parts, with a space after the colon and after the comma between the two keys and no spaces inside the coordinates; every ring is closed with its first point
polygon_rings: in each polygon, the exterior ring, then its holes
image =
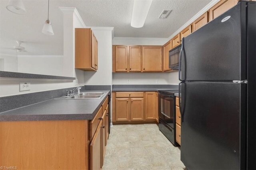
{"type": "Polygon", "coordinates": [[[146,92],[146,120],[156,120],[156,94],[146,92]]]}

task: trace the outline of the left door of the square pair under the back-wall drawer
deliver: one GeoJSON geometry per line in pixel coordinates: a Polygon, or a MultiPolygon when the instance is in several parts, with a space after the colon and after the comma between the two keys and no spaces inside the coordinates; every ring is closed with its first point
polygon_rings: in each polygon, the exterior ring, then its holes
{"type": "Polygon", "coordinates": [[[116,98],[116,121],[129,121],[129,98],[116,98]]]}

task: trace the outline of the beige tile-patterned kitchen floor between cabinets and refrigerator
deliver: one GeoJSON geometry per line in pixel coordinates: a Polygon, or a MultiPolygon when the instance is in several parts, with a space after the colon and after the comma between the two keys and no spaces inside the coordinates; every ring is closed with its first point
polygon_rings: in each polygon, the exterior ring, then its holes
{"type": "Polygon", "coordinates": [[[186,170],[180,148],[156,124],[113,125],[106,148],[104,170],[186,170]]]}

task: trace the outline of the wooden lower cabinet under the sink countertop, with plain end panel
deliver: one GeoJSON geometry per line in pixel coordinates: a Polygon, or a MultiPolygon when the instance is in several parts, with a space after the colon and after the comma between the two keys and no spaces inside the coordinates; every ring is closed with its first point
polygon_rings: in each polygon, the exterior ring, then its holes
{"type": "Polygon", "coordinates": [[[100,170],[109,132],[109,106],[104,107],[90,121],[0,122],[0,167],[100,170]]]}

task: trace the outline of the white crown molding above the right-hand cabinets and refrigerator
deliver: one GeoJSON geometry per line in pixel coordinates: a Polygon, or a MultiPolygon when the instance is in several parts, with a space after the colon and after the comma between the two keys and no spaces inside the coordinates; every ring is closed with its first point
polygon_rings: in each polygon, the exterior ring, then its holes
{"type": "Polygon", "coordinates": [[[188,22],[186,22],[182,27],[180,27],[176,32],[174,32],[170,37],[167,38],[167,41],[171,40],[174,36],[179,34],[182,30],[184,30],[187,26],[189,26],[192,22],[194,22],[197,18],[199,18],[202,14],[208,11],[212,6],[217,4],[219,0],[212,0],[209,4],[207,4],[202,10],[200,10],[195,16],[193,16],[188,22]]]}

